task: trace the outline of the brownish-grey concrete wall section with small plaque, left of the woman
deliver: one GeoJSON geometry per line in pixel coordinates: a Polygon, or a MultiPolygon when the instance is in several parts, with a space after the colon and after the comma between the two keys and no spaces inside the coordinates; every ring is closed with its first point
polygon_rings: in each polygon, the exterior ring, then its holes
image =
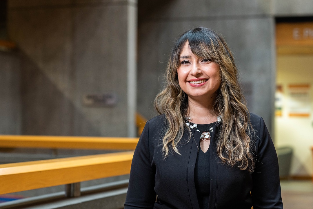
{"type": "Polygon", "coordinates": [[[136,8],[133,0],[8,1],[8,37],[21,51],[22,134],[135,135],[136,8]],[[86,107],[86,93],[115,93],[118,102],[86,107]]]}

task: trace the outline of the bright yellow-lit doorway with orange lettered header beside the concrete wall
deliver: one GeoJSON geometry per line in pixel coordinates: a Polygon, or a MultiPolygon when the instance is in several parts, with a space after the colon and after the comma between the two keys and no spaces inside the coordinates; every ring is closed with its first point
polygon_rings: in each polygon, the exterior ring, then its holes
{"type": "Polygon", "coordinates": [[[291,177],[311,178],[313,21],[278,21],[276,52],[275,145],[293,149],[291,177]]]}

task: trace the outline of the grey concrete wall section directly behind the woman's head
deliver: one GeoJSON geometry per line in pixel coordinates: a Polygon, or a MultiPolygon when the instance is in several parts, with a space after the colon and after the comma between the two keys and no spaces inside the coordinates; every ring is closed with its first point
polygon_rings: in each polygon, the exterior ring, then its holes
{"type": "Polygon", "coordinates": [[[204,26],[227,40],[242,83],[251,87],[247,89],[249,110],[262,116],[270,128],[275,86],[275,21],[270,1],[172,0],[165,4],[139,16],[138,111],[147,118],[155,114],[151,115],[151,101],[160,90],[173,41],[188,29],[204,26]]]}

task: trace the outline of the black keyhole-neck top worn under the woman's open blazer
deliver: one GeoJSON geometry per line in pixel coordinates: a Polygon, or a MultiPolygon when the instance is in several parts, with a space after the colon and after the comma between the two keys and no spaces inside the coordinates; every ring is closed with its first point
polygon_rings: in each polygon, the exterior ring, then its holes
{"type": "MultiPolygon", "coordinates": [[[[210,124],[198,124],[198,130],[203,133],[209,131],[213,127],[214,123],[210,124]]],[[[200,140],[200,139],[199,139],[200,140]]],[[[195,165],[195,186],[198,197],[198,202],[200,209],[208,208],[209,205],[209,195],[210,195],[210,149],[205,153],[199,147],[199,152],[195,165]]]]}

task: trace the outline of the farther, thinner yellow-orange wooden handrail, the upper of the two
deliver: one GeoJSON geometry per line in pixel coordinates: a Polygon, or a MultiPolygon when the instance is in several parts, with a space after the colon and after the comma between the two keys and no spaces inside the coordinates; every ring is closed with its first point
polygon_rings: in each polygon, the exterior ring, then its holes
{"type": "Polygon", "coordinates": [[[135,149],[138,138],[0,135],[0,147],[135,149]]]}

